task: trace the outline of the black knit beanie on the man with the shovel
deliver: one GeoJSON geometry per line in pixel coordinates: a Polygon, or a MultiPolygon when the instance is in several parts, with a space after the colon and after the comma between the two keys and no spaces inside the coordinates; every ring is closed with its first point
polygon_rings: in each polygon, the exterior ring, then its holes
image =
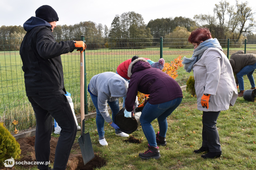
{"type": "Polygon", "coordinates": [[[45,20],[46,22],[58,21],[59,17],[56,11],[49,5],[43,5],[37,8],[36,17],[45,20]]]}

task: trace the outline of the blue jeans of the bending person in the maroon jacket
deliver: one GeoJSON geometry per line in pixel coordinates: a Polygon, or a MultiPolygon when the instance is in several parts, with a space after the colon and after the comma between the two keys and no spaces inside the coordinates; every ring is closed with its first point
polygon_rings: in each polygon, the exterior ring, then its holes
{"type": "Polygon", "coordinates": [[[177,98],[165,103],[150,104],[146,103],[144,106],[140,123],[148,144],[153,147],[157,147],[156,134],[151,122],[157,118],[159,125],[159,136],[166,137],[168,128],[167,117],[179,106],[182,98],[177,98]]]}

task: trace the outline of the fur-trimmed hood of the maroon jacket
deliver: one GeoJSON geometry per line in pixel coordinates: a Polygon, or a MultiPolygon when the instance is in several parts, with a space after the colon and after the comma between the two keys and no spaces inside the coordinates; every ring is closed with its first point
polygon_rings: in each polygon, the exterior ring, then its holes
{"type": "Polygon", "coordinates": [[[139,70],[144,70],[144,69],[150,68],[150,67],[151,67],[151,65],[147,62],[147,60],[145,58],[142,58],[142,57],[137,58],[136,60],[131,62],[131,64],[129,65],[127,75],[128,75],[128,77],[131,77],[134,72],[139,71],[139,70]]]}

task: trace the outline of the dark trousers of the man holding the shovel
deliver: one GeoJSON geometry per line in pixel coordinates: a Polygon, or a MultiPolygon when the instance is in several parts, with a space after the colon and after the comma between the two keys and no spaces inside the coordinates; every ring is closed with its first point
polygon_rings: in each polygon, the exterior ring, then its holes
{"type": "MultiPolygon", "coordinates": [[[[76,137],[77,126],[67,97],[64,94],[28,97],[36,116],[36,161],[49,162],[52,117],[61,127],[55,150],[54,169],[66,169],[76,137]]],[[[48,165],[37,165],[46,169],[48,165]]]]}

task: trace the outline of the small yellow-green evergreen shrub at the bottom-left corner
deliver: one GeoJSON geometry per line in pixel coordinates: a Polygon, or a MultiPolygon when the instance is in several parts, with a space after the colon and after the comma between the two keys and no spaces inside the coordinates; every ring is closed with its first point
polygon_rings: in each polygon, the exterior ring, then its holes
{"type": "Polygon", "coordinates": [[[20,145],[11,133],[0,123],[0,167],[4,166],[4,161],[13,157],[19,159],[20,145]]]}

